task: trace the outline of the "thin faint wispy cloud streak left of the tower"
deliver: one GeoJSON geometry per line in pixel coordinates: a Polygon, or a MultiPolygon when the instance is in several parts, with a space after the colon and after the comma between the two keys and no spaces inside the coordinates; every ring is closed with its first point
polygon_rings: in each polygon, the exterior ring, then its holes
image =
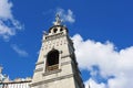
{"type": "Polygon", "coordinates": [[[16,53],[18,53],[20,56],[27,57],[29,54],[24,51],[21,50],[20,47],[18,47],[17,45],[11,45],[11,47],[13,48],[13,51],[16,53]]]}

